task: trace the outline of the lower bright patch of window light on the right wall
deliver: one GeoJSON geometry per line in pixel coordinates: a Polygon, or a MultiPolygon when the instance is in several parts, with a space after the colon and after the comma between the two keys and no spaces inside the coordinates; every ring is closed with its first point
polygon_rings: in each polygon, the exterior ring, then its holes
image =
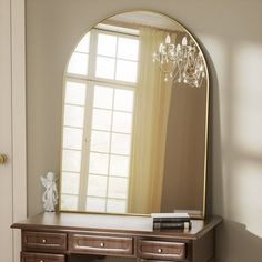
{"type": "Polygon", "coordinates": [[[231,172],[230,219],[245,224],[251,233],[262,236],[262,164],[239,158],[231,172]]]}

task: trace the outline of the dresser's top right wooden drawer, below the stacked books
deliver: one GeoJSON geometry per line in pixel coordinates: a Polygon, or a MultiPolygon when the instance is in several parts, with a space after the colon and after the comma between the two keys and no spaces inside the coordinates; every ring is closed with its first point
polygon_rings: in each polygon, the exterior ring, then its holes
{"type": "Polygon", "coordinates": [[[185,243],[139,240],[138,255],[153,260],[183,260],[185,259],[185,243]]]}

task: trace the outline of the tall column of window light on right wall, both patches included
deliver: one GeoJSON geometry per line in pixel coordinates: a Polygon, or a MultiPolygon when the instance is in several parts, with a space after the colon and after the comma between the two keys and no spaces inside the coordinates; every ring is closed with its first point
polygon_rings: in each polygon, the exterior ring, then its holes
{"type": "Polygon", "coordinates": [[[229,219],[262,238],[262,46],[234,47],[229,219]]]}

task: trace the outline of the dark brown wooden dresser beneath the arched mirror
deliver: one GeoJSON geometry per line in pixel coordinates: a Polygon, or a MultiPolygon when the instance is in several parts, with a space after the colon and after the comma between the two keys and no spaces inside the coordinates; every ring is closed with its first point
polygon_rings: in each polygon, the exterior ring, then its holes
{"type": "Polygon", "coordinates": [[[12,228],[22,230],[21,262],[67,262],[74,254],[139,262],[211,262],[215,228],[221,221],[218,216],[192,220],[188,232],[153,231],[151,218],[50,212],[12,228]]]}

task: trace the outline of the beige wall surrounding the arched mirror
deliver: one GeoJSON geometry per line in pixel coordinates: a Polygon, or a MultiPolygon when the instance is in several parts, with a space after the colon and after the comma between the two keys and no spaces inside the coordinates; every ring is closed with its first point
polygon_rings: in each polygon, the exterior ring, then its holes
{"type": "Polygon", "coordinates": [[[209,202],[224,218],[220,262],[262,258],[262,1],[27,0],[28,213],[39,177],[59,170],[62,74],[88,28],[128,9],[177,18],[203,43],[212,72],[209,202]]]}

